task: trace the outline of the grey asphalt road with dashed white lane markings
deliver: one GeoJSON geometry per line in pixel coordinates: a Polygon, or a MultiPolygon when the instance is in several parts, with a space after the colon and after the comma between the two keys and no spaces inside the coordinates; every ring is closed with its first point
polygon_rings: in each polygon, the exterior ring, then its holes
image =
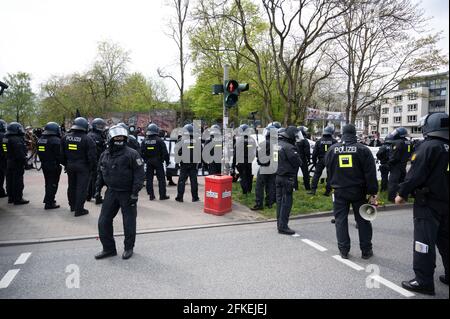
{"type": "Polygon", "coordinates": [[[334,257],[329,218],[291,221],[298,237],[279,235],[273,222],[139,235],[127,261],[120,257],[122,237],[119,255],[101,261],[94,259],[97,240],[2,247],[0,298],[448,299],[448,286],[438,280],[440,257],[435,297],[399,288],[414,275],[411,215],[379,215],[368,261],[360,258],[350,217],[350,265],[334,257]],[[77,269],[79,288],[68,288],[77,286],[77,269]]]}

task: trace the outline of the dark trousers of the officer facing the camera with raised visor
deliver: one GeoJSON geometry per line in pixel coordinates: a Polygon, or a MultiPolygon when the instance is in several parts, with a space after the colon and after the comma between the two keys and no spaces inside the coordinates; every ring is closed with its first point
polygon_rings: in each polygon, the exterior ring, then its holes
{"type": "Polygon", "coordinates": [[[98,233],[104,251],[115,251],[113,220],[122,211],[125,250],[133,249],[136,241],[137,206],[130,206],[131,192],[116,192],[107,189],[102,210],[98,218],[98,233]]]}

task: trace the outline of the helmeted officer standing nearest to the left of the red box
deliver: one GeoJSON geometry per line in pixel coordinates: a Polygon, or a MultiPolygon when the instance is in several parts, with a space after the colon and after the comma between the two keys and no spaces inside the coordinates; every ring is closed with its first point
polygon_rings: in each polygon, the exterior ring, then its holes
{"type": "Polygon", "coordinates": [[[180,163],[180,177],[178,179],[177,186],[177,202],[183,202],[184,189],[186,186],[186,180],[189,177],[191,182],[191,195],[192,201],[198,202],[198,182],[197,182],[197,169],[198,162],[201,159],[196,159],[194,156],[195,151],[201,147],[200,141],[194,138],[194,127],[192,124],[186,124],[183,127],[183,135],[181,140],[177,143],[175,150],[178,149],[179,163],[180,163]]]}

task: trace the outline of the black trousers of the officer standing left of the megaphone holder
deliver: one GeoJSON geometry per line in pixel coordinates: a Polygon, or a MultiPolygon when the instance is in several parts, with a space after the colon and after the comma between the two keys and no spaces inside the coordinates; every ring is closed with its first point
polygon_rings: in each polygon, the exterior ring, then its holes
{"type": "Polygon", "coordinates": [[[288,228],[289,216],[292,209],[292,192],[294,191],[294,177],[276,176],[276,199],[277,199],[277,227],[288,228]]]}

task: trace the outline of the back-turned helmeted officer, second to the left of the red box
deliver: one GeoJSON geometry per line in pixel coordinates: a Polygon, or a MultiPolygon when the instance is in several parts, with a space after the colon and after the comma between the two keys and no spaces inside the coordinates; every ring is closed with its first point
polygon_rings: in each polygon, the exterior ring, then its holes
{"type": "Polygon", "coordinates": [[[166,195],[166,176],[164,174],[163,162],[166,162],[166,166],[169,166],[170,159],[167,152],[166,144],[158,136],[159,127],[152,123],[147,128],[147,137],[141,144],[141,154],[147,164],[147,171],[145,178],[147,180],[147,194],[150,200],[155,199],[155,193],[153,191],[153,175],[156,172],[156,178],[158,179],[159,187],[159,199],[166,200],[169,196],[166,195]]]}

